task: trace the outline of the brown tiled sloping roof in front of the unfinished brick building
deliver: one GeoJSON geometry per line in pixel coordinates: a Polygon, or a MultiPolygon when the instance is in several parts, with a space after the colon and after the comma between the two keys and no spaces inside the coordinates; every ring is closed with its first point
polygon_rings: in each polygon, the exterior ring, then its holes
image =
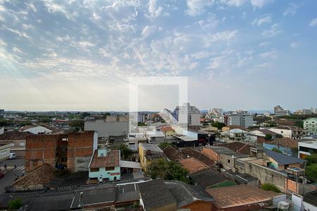
{"type": "Polygon", "coordinates": [[[44,163],[43,165],[33,170],[29,174],[15,181],[13,183],[13,186],[30,187],[47,184],[49,183],[49,181],[54,179],[55,170],[56,169],[51,165],[44,163]]]}

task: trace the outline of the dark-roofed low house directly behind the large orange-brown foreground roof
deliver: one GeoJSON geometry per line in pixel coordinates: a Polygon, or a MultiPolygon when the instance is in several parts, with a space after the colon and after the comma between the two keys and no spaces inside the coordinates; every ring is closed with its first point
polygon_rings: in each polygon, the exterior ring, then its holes
{"type": "Polygon", "coordinates": [[[230,179],[223,176],[220,172],[211,169],[190,174],[189,178],[194,181],[194,184],[199,185],[204,189],[235,185],[235,182],[230,181],[230,179]]]}

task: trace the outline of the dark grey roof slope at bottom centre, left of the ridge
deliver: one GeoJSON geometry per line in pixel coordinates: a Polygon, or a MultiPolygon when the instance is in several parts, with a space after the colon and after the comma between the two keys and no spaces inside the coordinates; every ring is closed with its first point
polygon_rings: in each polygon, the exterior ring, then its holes
{"type": "Polygon", "coordinates": [[[170,193],[168,188],[164,185],[162,179],[154,179],[139,183],[138,185],[145,210],[177,203],[172,193],[170,193]]]}

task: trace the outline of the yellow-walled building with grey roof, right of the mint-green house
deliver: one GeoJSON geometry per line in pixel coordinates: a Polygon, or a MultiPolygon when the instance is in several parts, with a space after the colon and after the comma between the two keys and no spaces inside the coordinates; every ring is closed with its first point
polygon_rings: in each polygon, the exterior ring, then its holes
{"type": "Polygon", "coordinates": [[[151,143],[139,143],[139,162],[144,172],[147,172],[152,160],[159,158],[166,158],[159,146],[151,143]]]}

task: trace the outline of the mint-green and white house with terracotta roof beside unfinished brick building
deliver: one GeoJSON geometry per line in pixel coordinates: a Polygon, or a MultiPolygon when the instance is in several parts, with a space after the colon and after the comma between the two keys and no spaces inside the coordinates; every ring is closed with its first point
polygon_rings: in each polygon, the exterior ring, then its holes
{"type": "Polygon", "coordinates": [[[89,178],[99,181],[120,180],[120,150],[95,150],[89,162],[89,178]]]}

